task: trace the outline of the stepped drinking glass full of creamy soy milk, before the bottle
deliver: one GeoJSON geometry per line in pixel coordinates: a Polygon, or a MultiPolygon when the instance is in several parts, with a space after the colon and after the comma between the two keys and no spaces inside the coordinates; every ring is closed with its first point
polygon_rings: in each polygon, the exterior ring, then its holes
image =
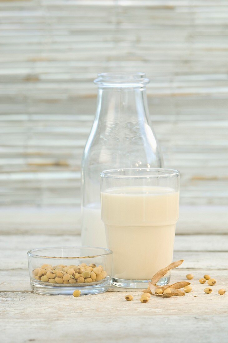
{"type": "MultiPolygon", "coordinates": [[[[112,283],[145,288],[173,259],[179,218],[178,170],[124,168],[101,174],[101,215],[113,251],[112,283]]],[[[170,272],[159,280],[166,285],[170,272]]]]}

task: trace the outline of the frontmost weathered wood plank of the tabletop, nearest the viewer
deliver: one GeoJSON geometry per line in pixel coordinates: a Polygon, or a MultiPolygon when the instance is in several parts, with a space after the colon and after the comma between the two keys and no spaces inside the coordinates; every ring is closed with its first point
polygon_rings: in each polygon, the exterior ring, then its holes
{"type": "Polygon", "coordinates": [[[140,292],[135,292],[131,302],[124,299],[125,294],[106,292],[57,299],[34,293],[1,293],[4,343],[43,342],[47,339],[47,324],[52,339],[61,342],[75,336],[83,341],[85,332],[94,336],[94,342],[105,342],[107,336],[110,342],[183,342],[186,335],[192,341],[227,341],[225,296],[195,291],[178,298],[153,297],[142,304],[140,292]]]}

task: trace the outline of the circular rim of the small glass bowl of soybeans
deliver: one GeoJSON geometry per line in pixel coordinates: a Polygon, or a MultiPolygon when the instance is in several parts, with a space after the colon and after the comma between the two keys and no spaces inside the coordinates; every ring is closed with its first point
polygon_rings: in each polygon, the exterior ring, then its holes
{"type": "Polygon", "coordinates": [[[76,259],[76,258],[94,258],[94,257],[102,257],[102,256],[108,256],[112,255],[113,251],[107,248],[100,248],[100,247],[90,247],[90,246],[60,246],[60,247],[47,247],[47,248],[37,248],[37,249],[32,249],[27,252],[27,255],[29,257],[38,257],[38,258],[52,258],[52,259],[76,259]],[[102,249],[106,251],[106,253],[103,254],[98,254],[98,255],[91,255],[91,256],[42,256],[42,255],[37,255],[34,252],[38,251],[43,251],[43,250],[54,250],[54,249],[78,249],[78,248],[91,248],[91,249],[102,249]]]}

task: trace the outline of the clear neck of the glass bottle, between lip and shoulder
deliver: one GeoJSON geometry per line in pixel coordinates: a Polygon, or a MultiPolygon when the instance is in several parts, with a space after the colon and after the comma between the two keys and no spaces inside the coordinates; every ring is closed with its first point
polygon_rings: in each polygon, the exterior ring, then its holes
{"type": "Polygon", "coordinates": [[[96,119],[99,122],[146,121],[150,124],[145,87],[98,88],[96,119]]]}

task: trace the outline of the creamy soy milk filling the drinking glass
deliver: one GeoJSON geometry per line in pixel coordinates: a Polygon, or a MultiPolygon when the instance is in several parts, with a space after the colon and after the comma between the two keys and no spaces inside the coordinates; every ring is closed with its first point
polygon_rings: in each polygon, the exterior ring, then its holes
{"type": "Polygon", "coordinates": [[[114,252],[114,278],[149,280],[172,262],[178,191],[114,187],[101,192],[101,203],[107,244],[114,252]]]}

